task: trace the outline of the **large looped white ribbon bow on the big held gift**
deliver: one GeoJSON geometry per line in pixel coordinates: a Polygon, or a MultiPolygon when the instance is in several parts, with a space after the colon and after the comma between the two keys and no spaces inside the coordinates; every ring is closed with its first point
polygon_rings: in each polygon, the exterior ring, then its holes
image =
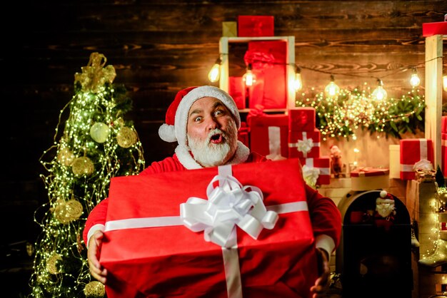
{"type": "Polygon", "coordinates": [[[266,210],[258,187],[242,186],[232,175],[216,175],[206,189],[208,200],[189,197],[180,205],[180,217],[193,232],[204,231],[204,238],[221,247],[236,243],[236,225],[257,239],[265,227],[273,229],[278,213],[266,210]],[[220,186],[214,187],[216,182],[220,186]],[[248,188],[251,191],[246,191],[248,188]]]}

